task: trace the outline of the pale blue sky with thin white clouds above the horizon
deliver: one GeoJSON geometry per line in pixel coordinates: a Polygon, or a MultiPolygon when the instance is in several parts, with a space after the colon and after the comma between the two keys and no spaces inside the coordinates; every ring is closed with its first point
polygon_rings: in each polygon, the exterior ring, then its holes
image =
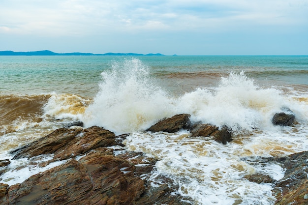
{"type": "Polygon", "coordinates": [[[0,0],[0,51],[308,55],[308,0],[0,0]]]}

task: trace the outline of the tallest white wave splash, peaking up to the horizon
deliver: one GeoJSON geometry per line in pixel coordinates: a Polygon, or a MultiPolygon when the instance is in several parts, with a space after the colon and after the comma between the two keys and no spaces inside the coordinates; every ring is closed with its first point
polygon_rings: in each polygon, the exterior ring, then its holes
{"type": "Polygon", "coordinates": [[[100,91],[83,118],[86,126],[100,125],[120,134],[146,129],[174,114],[172,99],[149,77],[149,68],[140,60],[114,63],[101,76],[100,91]]]}

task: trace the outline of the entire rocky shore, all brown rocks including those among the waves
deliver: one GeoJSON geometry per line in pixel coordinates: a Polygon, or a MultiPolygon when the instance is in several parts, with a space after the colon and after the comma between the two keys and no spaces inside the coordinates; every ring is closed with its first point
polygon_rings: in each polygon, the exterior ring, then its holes
{"type": "MultiPolygon", "coordinates": [[[[294,117],[283,114],[273,123],[289,126],[294,117]],[[280,120],[280,121],[278,121],[280,120]],[[282,121],[281,121],[282,120],[282,121]],[[280,123],[280,124],[279,124],[280,123]]],[[[227,126],[192,124],[189,115],[163,119],[147,131],[177,132],[189,129],[191,137],[210,137],[226,144],[232,141],[227,126]]],[[[79,123],[78,125],[82,125],[79,123]]],[[[167,176],[151,176],[156,159],[141,152],[128,152],[122,144],[128,135],[116,136],[102,127],[63,127],[27,146],[13,150],[13,159],[50,154],[53,158],[39,166],[66,160],[60,166],[33,175],[22,183],[0,183],[1,205],[190,205],[192,199],[177,193],[179,187],[167,176]]],[[[277,205],[308,204],[308,151],[286,157],[243,158],[252,164],[277,163],[285,169],[282,179],[256,173],[243,177],[255,183],[273,184],[277,205]]],[[[9,160],[0,161],[0,177],[9,160]]]]}

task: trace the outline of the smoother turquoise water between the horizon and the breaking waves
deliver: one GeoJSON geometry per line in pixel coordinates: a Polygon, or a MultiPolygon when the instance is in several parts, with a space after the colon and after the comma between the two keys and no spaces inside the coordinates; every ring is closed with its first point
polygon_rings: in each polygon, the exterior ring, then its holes
{"type": "MultiPolygon", "coordinates": [[[[262,84],[308,85],[308,56],[136,58],[149,66],[151,75],[162,79],[167,87],[178,87],[179,79],[187,79],[189,89],[212,85],[219,77],[226,76],[231,71],[242,70],[248,77],[262,84]]],[[[100,73],[111,69],[114,62],[123,59],[124,57],[105,56],[0,56],[0,94],[57,92],[94,96],[101,80],[100,73]]],[[[180,87],[186,91],[182,84],[180,87]]]]}

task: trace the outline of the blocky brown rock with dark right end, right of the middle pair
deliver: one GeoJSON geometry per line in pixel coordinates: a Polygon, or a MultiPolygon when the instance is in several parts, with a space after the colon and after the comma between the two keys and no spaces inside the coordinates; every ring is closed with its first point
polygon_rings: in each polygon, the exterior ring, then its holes
{"type": "Polygon", "coordinates": [[[196,124],[190,130],[191,137],[204,136],[214,137],[214,140],[222,144],[232,141],[232,133],[229,131],[228,127],[222,126],[221,129],[211,124],[196,124]]]}

